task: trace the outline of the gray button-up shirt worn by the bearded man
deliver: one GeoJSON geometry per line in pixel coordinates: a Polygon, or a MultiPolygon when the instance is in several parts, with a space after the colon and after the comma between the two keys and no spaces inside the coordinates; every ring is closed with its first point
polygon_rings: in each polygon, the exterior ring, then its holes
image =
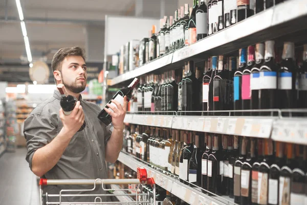
{"type": "MultiPolygon", "coordinates": [[[[27,139],[27,156],[30,169],[35,151],[49,144],[62,129],[62,121],[59,117],[60,93],[54,91],[53,97],[37,106],[25,120],[24,134],[27,139]]],[[[71,139],[68,147],[57,164],[42,178],[47,179],[96,179],[107,178],[105,163],[105,145],[111,132],[97,118],[101,109],[93,103],[82,100],[80,103],[85,115],[86,127],[77,132],[71,139]]],[[[99,186],[96,186],[99,187],[99,186]]],[[[45,187],[48,194],[59,194],[61,189],[92,189],[93,186],[51,186],[45,187]]],[[[75,192],[85,193],[85,192],[75,192]]],[[[94,192],[86,194],[103,193],[101,186],[94,192]]],[[[65,194],[65,193],[63,193],[65,194]]],[[[94,197],[95,198],[95,197],[94,197]]],[[[62,201],[94,202],[93,197],[62,198],[62,201]]],[[[58,201],[59,198],[49,201],[58,201]]],[[[106,200],[103,198],[103,200],[106,200]]]]}

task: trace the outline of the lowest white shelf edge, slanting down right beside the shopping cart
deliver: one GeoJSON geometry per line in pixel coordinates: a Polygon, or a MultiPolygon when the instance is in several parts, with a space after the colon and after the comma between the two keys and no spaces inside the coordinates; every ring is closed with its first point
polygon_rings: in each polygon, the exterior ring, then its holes
{"type": "Polygon", "coordinates": [[[149,167],[146,162],[138,160],[131,155],[121,152],[118,160],[134,171],[137,171],[138,167],[144,167],[147,170],[148,177],[153,177],[157,185],[190,204],[235,204],[233,199],[229,197],[208,196],[201,191],[179,182],[174,175],[169,173],[166,174],[166,172],[162,170],[159,171],[158,168],[153,169],[149,167]]]}

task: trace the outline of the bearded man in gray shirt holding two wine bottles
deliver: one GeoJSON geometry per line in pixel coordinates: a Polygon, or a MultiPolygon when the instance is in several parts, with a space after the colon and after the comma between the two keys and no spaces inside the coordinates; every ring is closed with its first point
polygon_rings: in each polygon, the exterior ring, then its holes
{"type": "MultiPolygon", "coordinates": [[[[97,118],[100,108],[83,100],[80,95],[85,89],[87,79],[84,50],[80,47],[60,49],[54,55],[51,67],[56,84],[63,84],[68,94],[79,101],[70,115],[64,115],[60,107],[60,93],[55,90],[53,97],[35,108],[25,120],[24,134],[28,151],[26,160],[30,169],[35,175],[47,179],[107,178],[105,161],[115,162],[122,148],[126,96],[123,106],[114,100],[117,107],[107,104],[114,111],[105,109],[112,116],[111,133],[97,118]],[[86,127],[77,132],[84,120],[86,127]]],[[[105,193],[101,186],[96,187],[94,193],[105,193]]],[[[62,189],[84,188],[92,189],[93,186],[48,186],[43,191],[59,194],[62,189]]],[[[61,200],[94,202],[94,199],[95,197],[62,197],[61,200]]],[[[59,198],[50,197],[49,201],[59,201],[59,198]]]]}

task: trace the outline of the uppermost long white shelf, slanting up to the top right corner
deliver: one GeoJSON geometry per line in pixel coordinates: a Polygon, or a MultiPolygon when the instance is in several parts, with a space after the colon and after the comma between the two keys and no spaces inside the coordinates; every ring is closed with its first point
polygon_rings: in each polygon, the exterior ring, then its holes
{"type": "MultiPolygon", "coordinates": [[[[165,66],[177,69],[181,66],[183,60],[202,60],[206,57],[206,54],[208,54],[207,56],[226,54],[268,39],[287,36],[288,34],[307,29],[306,20],[306,1],[289,0],[210,35],[195,44],[153,60],[133,71],[119,75],[111,80],[110,85],[120,84],[123,81],[165,66]]],[[[305,33],[301,35],[305,39],[305,33]]]]}

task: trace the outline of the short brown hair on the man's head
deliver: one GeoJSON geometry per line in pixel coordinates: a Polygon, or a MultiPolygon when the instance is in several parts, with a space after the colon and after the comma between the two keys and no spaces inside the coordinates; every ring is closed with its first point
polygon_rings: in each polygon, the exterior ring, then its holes
{"type": "Polygon", "coordinates": [[[75,46],[71,48],[61,48],[54,54],[52,62],[51,62],[51,68],[52,71],[59,70],[61,71],[61,64],[65,57],[70,55],[77,55],[81,56],[85,61],[85,51],[83,48],[75,46]]]}

